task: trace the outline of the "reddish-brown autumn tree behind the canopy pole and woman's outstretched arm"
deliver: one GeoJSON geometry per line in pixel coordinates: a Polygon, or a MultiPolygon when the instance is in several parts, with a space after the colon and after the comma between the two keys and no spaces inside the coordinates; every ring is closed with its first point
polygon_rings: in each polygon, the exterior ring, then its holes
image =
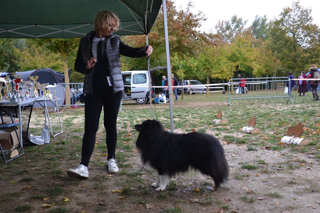
{"type": "MultiPolygon", "coordinates": [[[[194,14],[190,11],[190,8],[193,7],[191,2],[186,10],[177,10],[173,5],[173,1],[166,1],[166,6],[170,57],[176,59],[173,63],[173,69],[180,70],[180,67],[183,66],[183,61],[195,57],[204,46],[206,37],[198,28],[201,27],[201,21],[206,19],[202,12],[194,14]],[[181,63],[175,63],[178,61],[181,63]]],[[[154,48],[150,57],[151,67],[164,66],[166,64],[166,51],[162,9],[160,9],[156,21],[148,34],[148,39],[149,44],[154,48]]],[[[145,35],[124,36],[122,40],[124,43],[135,47],[143,46],[146,43],[145,35]]],[[[122,60],[132,70],[146,69],[147,63],[144,58],[124,58],[122,60]]],[[[177,77],[183,77],[183,73],[177,75],[177,77]]]]}

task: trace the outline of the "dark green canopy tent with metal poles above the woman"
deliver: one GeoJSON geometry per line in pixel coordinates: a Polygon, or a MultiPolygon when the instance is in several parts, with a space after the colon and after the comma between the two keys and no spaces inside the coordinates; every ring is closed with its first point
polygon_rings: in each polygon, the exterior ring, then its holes
{"type": "MultiPolygon", "coordinates": [[[[11,0],[1,1],[0,38],[73,38],[93,30],[92,21],[100,10],[114,12],[120,19],[117,35],[146,35],[159,13],[164,12],[168,79],[171,78],[165,0],[11,0]],[[170,78],[169,78],[170,77],[170,78]]],[[[149,63],[148,63],[149,65],[149,63]]],[[[148,67],[149,68],[149,67],[148,67]]],[[[171,88],[169,81],[169,88],[171,88]]],[[[151,90],[150,90],[151,91],[151,90]]],[[[170,124],[173,132],[172,100],[170,124]]],[[[152,118],[152,105],[151,118],[152,118]]]]}

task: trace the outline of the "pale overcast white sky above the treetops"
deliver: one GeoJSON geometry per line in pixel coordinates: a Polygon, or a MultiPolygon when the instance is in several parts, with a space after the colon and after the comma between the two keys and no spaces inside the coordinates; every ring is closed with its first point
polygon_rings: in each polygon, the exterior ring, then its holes
{"type": "MultiPolygon", "coordinates": [[[[190,0],[175,0],[177,10],[185,10],[190,0]]],[[[192,0],[194,8],[193,13],[201,11],[207,18],[202,23],[202,31],[209,32],[214,30],[214,26],[219,20],[230,20],[236,14],[243,20],[248,20],[248,26],[251,25],[255,16],[264,16],[271,20],[278,18],[284,7],[292,6],[292,0],[192,0]]],[[[313,22],[320,25],[320,1],[319,0],[300,0],[300,5],[304,8],[311,8],[313,22]]]]}

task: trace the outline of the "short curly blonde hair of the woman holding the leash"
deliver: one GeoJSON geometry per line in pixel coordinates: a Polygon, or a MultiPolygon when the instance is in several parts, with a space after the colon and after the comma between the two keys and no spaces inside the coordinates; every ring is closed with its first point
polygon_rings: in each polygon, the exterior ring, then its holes
{"type": "Polygon", "coordinates": [[[97,13],[96,17],[93,20],[94,30],[100,30],[106,28],[110,20],[115,20],[116,24],[114,26],[115,31],[119,28],[120,20],[119,18],[110,11],[101,10],[97,13]]]}

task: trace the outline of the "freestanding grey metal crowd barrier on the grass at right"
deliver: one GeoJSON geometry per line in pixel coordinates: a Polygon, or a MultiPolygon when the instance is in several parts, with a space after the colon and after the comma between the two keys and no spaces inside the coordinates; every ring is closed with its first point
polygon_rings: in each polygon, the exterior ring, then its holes
{"type": "Polygon", "coordinates": [[[286,82],[290,82],[289,77],[230,79],[228,83],[229,105],[231,106],[230,100],[263,98],[288,98],[287,103],[291,100],[293,104],[290,83],[288,93],[284,93],[286,82]],[[244,81],[240,82],[240,80],[244,81]]]}

